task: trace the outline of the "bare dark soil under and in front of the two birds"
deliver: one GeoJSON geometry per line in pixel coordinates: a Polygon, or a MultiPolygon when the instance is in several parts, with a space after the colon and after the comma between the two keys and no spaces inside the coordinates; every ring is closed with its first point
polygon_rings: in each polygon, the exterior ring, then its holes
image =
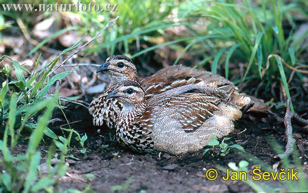
{"type": "MultiPolygon", "coordinates": [[[[90,101],[91,97],[86,100],[90,101]]],[[[308,105],[304,101],[308,100],[295,103],[295,106],[298,106],[296,111],[299,115],[303,115],[303,118],[308,118],[305,114],[308,105]]],[[[284,108],[273,109],[273,111],[283,118],[284,108]]],[[[69,104],[65,114],[70,122],[80,121],[71,124],[71,127],[81,134],[87,133],[88,139],[85,145],[88,151],[86,154],[80,153],[80,145],[75,142],[71,153],[80,160],[68,161],[70,167],[67,175],[56,187],[59,190],[67,188],[83,190],[90,184],[89,190],[98,192],[112,192],[114,188],[122,189],[119,192],[253,191],[244,182],[223,181],[221,177],[225,174],[222,171],[219,171],[217,180],[209,181],[204,177],[206,169],[216,166],[226,168],[229,162],[238,163],[240,160],[248,160],[239,152],[231,151],[225,157],[212,157],[209,154],[203,156],[202,151],[185,157],[173,157],[167,154],[162,154],[161,157],[138,154],[124,149],[117,141],[111,141],[108,132],[97,133],[98,128],[92,126],[91,116],[83,106],[69,104]],[[87,178],[88,174],[92,174],[93,178],[87,178]]],[[[57,112],[55,116],[64,120],[60,112],[57,112]]],[[[294,124],[293,128],[300,151],[300,161],[307,174],[308,131],[302,125],[294,124]]],[[[281,146],[286,144],[283,122],[273,115],[259,113],[245,114],[236,123],[235,132],[228,137],[231,138],[228,140],[229,144],[240,144],[247,154],[271,166],[280,162],[274,159],[277,153],[270,139],[276,140],[281,146]]],[[[251,172],[253,167],[252,161],[249,162],[248,171],[251,172]]],[[[272,187],[280,187],[282,190],[284,188],[283,183],[264,183],[272,187]]]]}

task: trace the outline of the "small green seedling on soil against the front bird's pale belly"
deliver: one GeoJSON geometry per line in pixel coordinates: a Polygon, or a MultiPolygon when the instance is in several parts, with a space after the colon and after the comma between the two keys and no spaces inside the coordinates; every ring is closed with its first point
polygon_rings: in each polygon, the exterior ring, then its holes
{"type": "Polygon", "coordinates": [[[229,154],[230,149],[235,148],[240,151],[244,151],[244,148],[241,145],[234,144],[234,145],[229,145],[225,143],[225,141],[229,140],[230,138],[226,137],[223,138],[221,143],[216,139],[215,135],[213,135],[213,138],[208,142],[208,146],[212,146],[212,148],[206,148],[203,152],[203,155],[205,155],[208,151],[212,151],[211,156],[214,156],[214,154],[217,154],[219,156],[226,156],[229,154]],[[216,151],[216,148],[219,149],[216,151]]]}

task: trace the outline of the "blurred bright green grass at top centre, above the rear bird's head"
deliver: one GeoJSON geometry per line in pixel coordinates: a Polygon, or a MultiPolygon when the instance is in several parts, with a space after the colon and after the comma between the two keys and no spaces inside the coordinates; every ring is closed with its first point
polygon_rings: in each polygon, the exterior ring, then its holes
{"type": "MultiPolygon", "coordinates": [[[[90,1],[84,1],[88,4],[90,1]]],[[[97,1],[100,5],[105,5],[105,1],[97,1]]],[[[176,8],[174,1],[109,1],[110,4],[117,4],[116,12],[83,12],[81,18],[83,24],[89,30],[89,34],[95,34],[99,29],[106,25],[110,18],[119,16],[117,26],[111,32],[102,35],[97,45],[89,49],[89,53],[101,52],[104,49],[107,55],[113,55],[118,49],[122,53],[131,54],[130,45],[136,44],[140,49],[141,40],[148,43],[163,32],[164,25],[169,24],[165,19],[176,8]],[[94,29],[93,29],[94,26],[94,29]],[[128,35],[128,36],[126,36],[128,35]],[[148,40],[146,40],[148,39],[148,40]]],[[[79,14],[79,13],[77,13],[79,14]]]]}

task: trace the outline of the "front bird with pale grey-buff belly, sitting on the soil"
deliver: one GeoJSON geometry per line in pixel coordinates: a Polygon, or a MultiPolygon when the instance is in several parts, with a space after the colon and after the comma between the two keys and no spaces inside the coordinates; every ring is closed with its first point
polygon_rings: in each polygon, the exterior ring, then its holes
{"type": "Polygon", "coordinates": [[[148,100],[138,82],[123,81],[106,99],[123,104],[116,120],[119,143],[137,152],[184,155],[198,152],[215,135],[234,130],[242,112],[221,89],[186,84],[148,100]]]}

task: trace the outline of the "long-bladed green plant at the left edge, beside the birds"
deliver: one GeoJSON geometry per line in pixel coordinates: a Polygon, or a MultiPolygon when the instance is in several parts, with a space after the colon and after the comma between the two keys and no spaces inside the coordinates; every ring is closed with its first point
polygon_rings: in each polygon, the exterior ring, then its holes
{"type": "MultiPolygon", "coordinates": [[[[55,81],[64,78],[72,71],[57,74],[49,79],[48,73],[54,67],[59,57],[56,57],[49,65],[36,73],[38,61],[40,60],[40,57],[38,57],[32,74],[9,56],[2,56],[0,62],[5,57],[12,61],[14,68],[10,69],[9,65],[6,64],[0,70],[0,73],[3,72],[7,75],[7,79],[2,83],[2,89],[0,90],[0,124],[4,122],[9,126],[9,135],[11,136],[10,147],[14,149],[24,128],[34,131],[37,122],[33,118],[38,117],[50,105],[44,97],[48,89],[55,81]],[[11,77],[10,74],[12,71],[15,71],[17,80],[11,77]],[[26,78],[23,71],[31,75],[26,78]],[[40,75],[42,75],[42,78],[37,81],[36,79],[40,75]],[[9,101],[13,101],[14,103],[9,104],[9,101]]],[[[60,95],[56,96],[60,98],[60,95]]],[[[55,107],[62,108],[59,104],[56,104],[55,107]]],[[[48,127],[43,132],[45,135],[57,139],[57,136],[48,127]]]]}

